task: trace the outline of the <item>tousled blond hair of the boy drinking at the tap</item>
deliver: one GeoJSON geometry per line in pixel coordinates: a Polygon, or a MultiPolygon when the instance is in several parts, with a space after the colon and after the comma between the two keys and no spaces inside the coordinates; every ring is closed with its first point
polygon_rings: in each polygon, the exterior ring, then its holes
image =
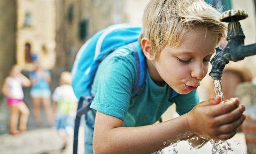
{"type": "Polygon", "coordinates": [[[184,36],[198,26],[215,34],[219,44],[227,30],[219,17],[220,13],[204,0],[151,0],[143,14],[139,40],[148,39],[156,59],[166,45],[177,47],[184,36]]]}

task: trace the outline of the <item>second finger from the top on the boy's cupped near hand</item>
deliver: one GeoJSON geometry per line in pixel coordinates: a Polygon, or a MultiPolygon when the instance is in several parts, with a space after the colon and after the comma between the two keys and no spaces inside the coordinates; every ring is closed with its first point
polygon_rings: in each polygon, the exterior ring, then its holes
{"type": "Polygon", "coordinates": [[[233,111],[220,115],[218,117],[215,117],[216,124],[217,125],[223,125],[225,123],[233,122],[234,120],[237,120],[243,112],[245,111],[245,106],[243,104],[240,104],[237,108],[235,108],[233,111]]]}

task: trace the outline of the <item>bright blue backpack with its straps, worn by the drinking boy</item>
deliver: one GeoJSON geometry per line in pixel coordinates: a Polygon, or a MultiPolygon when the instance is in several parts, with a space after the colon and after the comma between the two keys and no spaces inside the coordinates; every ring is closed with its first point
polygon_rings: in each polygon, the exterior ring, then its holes
{"type": "MultiPolygon", "coordinates": [[[[141,51],[140,43],[138,42],[141,30],[141,26],[134,26],[131,24],[109,26],[87,40],[76,55],[76,60],[72,68],[72,87],[76,97],[80,99],[75,120],[73,154],[77,154],[81,116],[90,110],[89,106],[93,100],[91,84],[93,83],[97,67],[99,66],[99,63],[111,53],[111,51],[124,45],[133,48],[138,75],[136,83],[132,89],[132,98],[136,97],[142,90],[147,65],[145,56],[141,51]],[[83,103],[84,106],[82,106],[83,103]]],[[[172,91],[172,97],[175,96],[177,96],[177,92],[172,91]]]]}

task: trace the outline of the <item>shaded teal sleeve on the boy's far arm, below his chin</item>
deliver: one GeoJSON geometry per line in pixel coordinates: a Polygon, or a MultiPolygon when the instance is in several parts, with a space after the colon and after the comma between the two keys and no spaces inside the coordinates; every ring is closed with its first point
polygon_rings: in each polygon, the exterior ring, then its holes
{"type": "Polygon", "coordinates": [[[174,102],[177,113],[179,115],[186,114],[199,103],[198,93],[196,90],[193,90],[188,94],[180,94],[174,98],[174,102]]]}

